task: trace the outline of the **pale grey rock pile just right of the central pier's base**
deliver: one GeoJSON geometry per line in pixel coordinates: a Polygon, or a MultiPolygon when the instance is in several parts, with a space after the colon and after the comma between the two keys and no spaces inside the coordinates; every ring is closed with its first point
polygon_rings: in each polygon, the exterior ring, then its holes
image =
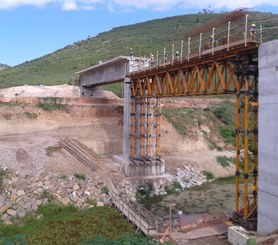
{"type": "Polygon", "coordinates": [[[179,182],[182,189],[185,189],[202,185],[207,178],[202,169],[184,165],[184,169],[177,168],[176,181],[179,182]]]}

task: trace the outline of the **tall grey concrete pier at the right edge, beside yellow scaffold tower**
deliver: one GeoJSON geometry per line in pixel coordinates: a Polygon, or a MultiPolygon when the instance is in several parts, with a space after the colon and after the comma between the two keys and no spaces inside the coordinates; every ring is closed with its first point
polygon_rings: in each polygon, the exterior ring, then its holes
{"type": "Polygon", "coordinates": [[[278,40],[259,48],[258,232],[278,230],[278,40]]]}

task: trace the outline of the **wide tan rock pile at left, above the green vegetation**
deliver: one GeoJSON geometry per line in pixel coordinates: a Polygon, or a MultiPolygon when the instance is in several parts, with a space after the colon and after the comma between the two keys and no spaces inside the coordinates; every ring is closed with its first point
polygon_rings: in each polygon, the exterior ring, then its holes
{"type": "Polygon", "coordinates": [[[51,201],[79,208],[103,206],[109,202],[109,196],[102,191],[104,187],[98,177],[6,174],[0,191],[0,217],[2,220],[22,218],[51,201]]]}

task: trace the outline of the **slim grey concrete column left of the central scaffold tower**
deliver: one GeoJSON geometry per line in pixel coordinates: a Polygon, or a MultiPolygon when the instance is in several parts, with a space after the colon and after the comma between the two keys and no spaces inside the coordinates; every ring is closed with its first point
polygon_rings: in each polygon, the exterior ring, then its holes
{"type": "Polygon", "coordinates": [[[124,79],[124,140],[123,140],[123,157],[125,160],[130,156],[130,100],[131,100],[131,85],[130,79],[124,79]]]}

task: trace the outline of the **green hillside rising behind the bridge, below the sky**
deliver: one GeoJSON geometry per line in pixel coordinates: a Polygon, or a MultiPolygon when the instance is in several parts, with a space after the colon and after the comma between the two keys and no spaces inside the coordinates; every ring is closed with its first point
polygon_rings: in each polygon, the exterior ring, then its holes
{"type": "MultiPolygon", "coordinates": [[[[0,72],[0,88],[23,84],[74,83],[75,72],[119,55],[149,55],[172,44],[180,45],[189,30],[208,23],[221,14],[191,14],[113,28],[96,37],[76,42],[41,58],[0,72]]],[[[255,19],[277,19],[270,13],[252,13],[255,19]]]]}

